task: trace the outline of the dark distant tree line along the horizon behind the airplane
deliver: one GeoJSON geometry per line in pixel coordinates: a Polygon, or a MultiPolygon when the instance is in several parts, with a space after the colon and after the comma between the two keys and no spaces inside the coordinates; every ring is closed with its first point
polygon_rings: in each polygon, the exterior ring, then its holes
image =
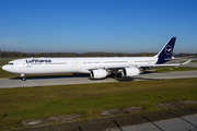
{"type": "MultiPolygon", "coordinates": [[[[0,57],[152,57],[155,52],[140,52],[140,53],[126,53],[126,52],[21,52],[21,51],[1,51],[0,57]]],[[[174,57],[196,56],[197,53],[178,53],[174,57]]]]}

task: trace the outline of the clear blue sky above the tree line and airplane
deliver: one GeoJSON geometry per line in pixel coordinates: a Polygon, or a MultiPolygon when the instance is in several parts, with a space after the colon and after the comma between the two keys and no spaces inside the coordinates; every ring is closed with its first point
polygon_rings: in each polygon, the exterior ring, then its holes
{"type": "Polygon", "coordinates": [[[197,52],[197,0],[0,0],[0,50],[197,52]]]}

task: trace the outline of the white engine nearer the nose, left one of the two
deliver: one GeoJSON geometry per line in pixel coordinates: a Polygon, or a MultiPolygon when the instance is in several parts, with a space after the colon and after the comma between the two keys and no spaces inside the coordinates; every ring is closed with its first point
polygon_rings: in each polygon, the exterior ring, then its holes
{"type": "Polygon", "coordinates": [[[106,78],[106,75],[108,75],[108,72],[103,69],[92,70],[90,75],[92,79],[103,79],[106,78]]]}

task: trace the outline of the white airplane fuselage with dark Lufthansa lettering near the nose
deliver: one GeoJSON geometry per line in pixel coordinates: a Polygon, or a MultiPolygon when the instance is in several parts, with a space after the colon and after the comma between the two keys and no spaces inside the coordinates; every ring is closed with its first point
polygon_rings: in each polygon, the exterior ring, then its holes
{"type": "Polygon", "coordinates": [[[25,58],[10,61],[2,69],[19,74],[90,73],[90,69],[155,64],[158,57],[89,57],[89,58],[25,58]]]}

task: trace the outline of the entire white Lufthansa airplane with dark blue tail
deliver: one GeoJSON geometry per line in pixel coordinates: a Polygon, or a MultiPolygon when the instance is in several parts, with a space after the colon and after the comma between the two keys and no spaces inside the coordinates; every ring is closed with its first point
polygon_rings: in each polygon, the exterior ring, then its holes
{"type": "Polygon", "coordinates": [[[176,37],[171,37],[160,52],[153,57],[86,57],[86,58],[24,58],[8,62],[2,67],[4,71],[21,74],[47,73],[89,73],[91,79],[105,79],[107,75],[137,76],[141,71],[153,67],[188,64],[162,64],[174,59],[172,57],[176,37]]]}

